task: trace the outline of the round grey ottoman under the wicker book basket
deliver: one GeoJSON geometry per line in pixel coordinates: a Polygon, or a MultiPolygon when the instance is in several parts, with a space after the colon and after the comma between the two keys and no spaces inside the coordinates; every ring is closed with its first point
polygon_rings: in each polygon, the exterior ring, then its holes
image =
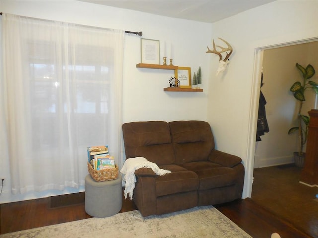
{"type": "Polygon", "coordinates": [[[117,214],[122,206],[122,181],[96,182],[90,174],[85,177],[85,211],[92,217],[109,217],[117,214]]]}

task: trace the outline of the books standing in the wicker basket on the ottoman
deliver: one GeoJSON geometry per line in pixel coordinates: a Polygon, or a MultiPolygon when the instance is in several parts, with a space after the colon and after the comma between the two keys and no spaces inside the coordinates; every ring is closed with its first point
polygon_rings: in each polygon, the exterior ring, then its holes
{"type": "Polygon", "coordinates": [[[115,168],[115,160],[109,155],[108,145],[87,147],[88,163],[94,170],[115,168]]]}

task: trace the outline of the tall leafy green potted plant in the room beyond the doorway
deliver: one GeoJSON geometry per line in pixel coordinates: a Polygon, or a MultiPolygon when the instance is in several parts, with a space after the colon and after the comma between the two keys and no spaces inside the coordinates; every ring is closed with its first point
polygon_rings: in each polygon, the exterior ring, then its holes
{"type": "Polygon", "coordinates": [[[305,159],[305,152],[303,151],[304,145],[307,141],[307,134],[308,134],[308,124],[309,124],[309,116],[302,114],[302,106],[303,102],[305,101],[304,92],[312,88],[314,92],[318,95],[318,84],[314,81],[309,80],[311,77],[314,76],[315,70],[314,67],[310,64],[304,68],[302,65],[296,63],[296,67],[302,73],[303,81],[295,82],[290,91],[293,93],[294,97],[298,100],[298,126],[292,127],[289,129],[288,134],[292,134],[295,131],[298,132],[298,151],[294,152],[295,164],[297,166],[302,167],[304,164],[305,159]]]}

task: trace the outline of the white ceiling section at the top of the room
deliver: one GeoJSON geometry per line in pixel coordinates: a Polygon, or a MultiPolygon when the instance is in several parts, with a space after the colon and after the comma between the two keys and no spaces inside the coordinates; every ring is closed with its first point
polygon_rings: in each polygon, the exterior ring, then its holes
{"type": "Polygon", "coordinates": [[[273,0],[87,0],[85,2],[213,23],[273,0]]]}

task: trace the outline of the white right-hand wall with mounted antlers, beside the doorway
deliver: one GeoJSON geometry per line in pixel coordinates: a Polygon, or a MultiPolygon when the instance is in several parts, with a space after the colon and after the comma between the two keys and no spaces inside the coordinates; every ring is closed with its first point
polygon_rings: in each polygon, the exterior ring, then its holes
{"type": "Polygon", "coordinates": [[[212,31],[214,39],[232,43],[234,53],[227,71],[218,77],[213,74],[217,57],[211,59],[208,122],[218,148],[242,157],[246,168],[243,197],[251,196],[260,87],[255,52],[318,37],[318,1],[275,1],[216,22],[212,31]]]}

